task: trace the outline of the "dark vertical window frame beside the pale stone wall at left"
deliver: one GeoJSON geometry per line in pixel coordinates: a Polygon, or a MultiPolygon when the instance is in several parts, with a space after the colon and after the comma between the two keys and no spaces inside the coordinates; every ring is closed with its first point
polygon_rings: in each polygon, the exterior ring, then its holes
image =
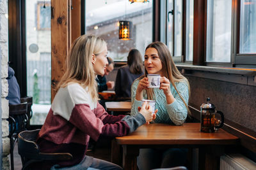
{"type": "Polygon", "coordinates": [[[27,96],[26,2],[8,1],[8,52],[10,66],[20,86],[20,97],[27,96]]]}

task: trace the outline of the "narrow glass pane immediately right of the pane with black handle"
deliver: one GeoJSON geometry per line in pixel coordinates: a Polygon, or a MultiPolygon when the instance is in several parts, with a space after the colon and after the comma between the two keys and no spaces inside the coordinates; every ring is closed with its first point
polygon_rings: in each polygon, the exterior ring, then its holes
{"type": "Polygon", "coordinates": [[[175,1],[174,8],[174,56],[182,53],[182,1],[175,1]]]}

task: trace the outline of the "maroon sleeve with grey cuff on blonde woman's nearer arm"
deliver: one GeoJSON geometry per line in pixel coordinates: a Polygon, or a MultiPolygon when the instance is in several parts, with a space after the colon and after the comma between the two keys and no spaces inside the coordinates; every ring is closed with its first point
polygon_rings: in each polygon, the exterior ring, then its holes
{"type": "Polygon", "coordinates": [[[118,120],[113,124],[103,124],[100,118],[97,118],[93,111],[90,110],[88,104],[76,104],[69,122],[91,136],[95,141],[97,141],[100,135],[109,137],[125,136],[146,122],[141,114],[136,115],[136,117],[109,116],[104,119],[108,119],[111,122],[111,119],[117,120],[119,118],[122,118],[122,120],[118,120]]]}

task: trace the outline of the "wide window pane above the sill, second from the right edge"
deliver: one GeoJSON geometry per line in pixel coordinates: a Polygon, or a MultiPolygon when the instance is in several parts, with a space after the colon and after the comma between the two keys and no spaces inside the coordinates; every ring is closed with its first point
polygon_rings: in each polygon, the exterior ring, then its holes
{"type": "Polygon", "coordinates": [[[232,0],[207,1],[207,62],[230,62],[231,22],[232,0]]]}

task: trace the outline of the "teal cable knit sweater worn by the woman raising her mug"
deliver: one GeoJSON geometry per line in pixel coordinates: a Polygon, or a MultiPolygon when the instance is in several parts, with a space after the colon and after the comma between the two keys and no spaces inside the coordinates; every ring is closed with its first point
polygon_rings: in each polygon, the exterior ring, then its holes
{"type": "MultiPolygon", "coordinates": [[[[135,99],[136,90],[139,84],[139,79],[137,78],[134,80],[134,83],[131,87],[131,101],[132,101],[132,109],[131,115],[136,115],[139,113],[138,107],[141,106],[141,101],[137,101],[135,99]]],[[[179,91],[180,95],[188,104],[189,99],[189,90],[188,90],[188,83],[186,81],[176,82],[175,86],[179,91]]],[[[182,99],[180,99],[179,94],[174,89],[172,83],[170,84],[171,92],[175,101],[171,104],[166,103],[166,97],[164,95],[163,90],[159,90],[158,88],[154,89],[154,101],[156,101],[155,109],[158,109],[157,117],[154,120],[155,123],[161,124],[175,124],[175,125],[182,125],[188,116],[188,110],[183,103],[182,99]]],[[[146,91],[143,90],[143,97],[147,99],[146,91]]]]}

